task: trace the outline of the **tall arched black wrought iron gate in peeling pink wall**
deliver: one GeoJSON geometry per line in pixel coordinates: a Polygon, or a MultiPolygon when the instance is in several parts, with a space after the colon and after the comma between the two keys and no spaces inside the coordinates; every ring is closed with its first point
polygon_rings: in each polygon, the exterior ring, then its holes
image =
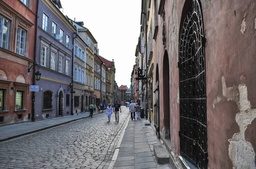
{"type": "Polygon", "coordinates": [[[201,4],[192,0],[180,35],[180,152],[207,169],[207,109],[201,4]]]}

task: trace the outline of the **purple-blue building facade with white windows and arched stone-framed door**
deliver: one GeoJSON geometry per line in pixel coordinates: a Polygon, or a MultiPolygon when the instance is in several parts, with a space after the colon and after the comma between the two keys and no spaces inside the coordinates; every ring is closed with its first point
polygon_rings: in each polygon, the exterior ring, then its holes
{"type": "Polygon", "coordinates": [[[35,93],[35,119],[72,114],[73,34],[76,28],[59,10],[60,1],[39,0],[36,62],[40,92],[35,93]]]}

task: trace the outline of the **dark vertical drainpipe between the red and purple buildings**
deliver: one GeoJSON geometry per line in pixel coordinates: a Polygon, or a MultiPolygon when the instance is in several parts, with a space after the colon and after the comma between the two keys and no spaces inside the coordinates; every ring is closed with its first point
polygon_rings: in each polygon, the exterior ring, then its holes
{"type": "MultiPolygon", "coordinates": [[[[37,31],[38,31],[38,8],[39,0],[37,1],[36,15],[35,15],[35,47],[34,47],[34,66],[33,66],[33,85],[35,85],[35,63],[36,63],[36,48],[37,48],[37,31]]],[[[32,92],[32,121],[35,121],[35,92],[32,92]]]]}

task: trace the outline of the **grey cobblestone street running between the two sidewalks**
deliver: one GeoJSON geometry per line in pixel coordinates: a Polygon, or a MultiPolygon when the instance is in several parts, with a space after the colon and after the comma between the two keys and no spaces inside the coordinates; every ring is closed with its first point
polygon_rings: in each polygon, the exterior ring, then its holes
{"type": "Polygon", "coordinates": [[[101,113],[1,142],[0,168],[107,168],[129,116],[128,108],[121,109],[119,123],[114,113],[110,122],[106,113],[101,113]]]}

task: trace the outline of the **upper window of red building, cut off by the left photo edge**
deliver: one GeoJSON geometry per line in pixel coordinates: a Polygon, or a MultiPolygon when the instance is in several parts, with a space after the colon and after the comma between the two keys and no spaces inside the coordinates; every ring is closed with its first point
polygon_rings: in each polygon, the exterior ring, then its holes
{"type": "Polygon", "coordinates": [[[0,16],[0,47],[8,48],[9,21],[0,16]]]}

